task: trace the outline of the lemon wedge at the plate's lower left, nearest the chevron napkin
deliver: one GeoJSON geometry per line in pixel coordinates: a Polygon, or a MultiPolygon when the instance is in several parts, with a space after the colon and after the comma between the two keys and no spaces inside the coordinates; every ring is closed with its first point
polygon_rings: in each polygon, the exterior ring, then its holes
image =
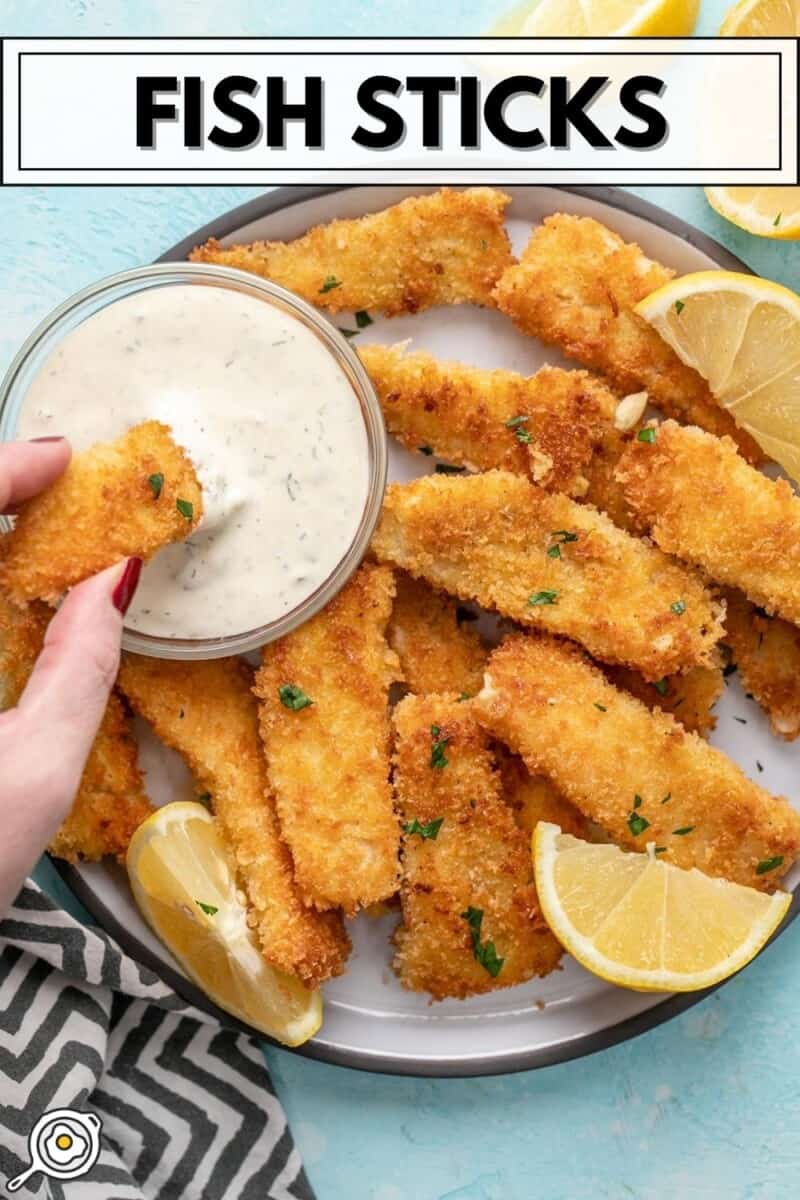
{"type": "Polygon", "coordinates": [[[207,809],[157,809],[131,839],[127,870],[145,920],[215,1004],[284,1045],[313,1037],[321,996],[264,960],[207,809]]]}

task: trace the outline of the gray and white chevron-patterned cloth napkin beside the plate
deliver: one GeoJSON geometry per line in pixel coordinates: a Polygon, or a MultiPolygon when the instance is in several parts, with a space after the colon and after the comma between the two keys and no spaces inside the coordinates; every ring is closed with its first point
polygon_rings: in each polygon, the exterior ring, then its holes
{"type": "Polygon", "coordinates": [[[31,881],[0,924],[0,1194],[12,1193],[314,1200],[258,1043],[31,881]]]}

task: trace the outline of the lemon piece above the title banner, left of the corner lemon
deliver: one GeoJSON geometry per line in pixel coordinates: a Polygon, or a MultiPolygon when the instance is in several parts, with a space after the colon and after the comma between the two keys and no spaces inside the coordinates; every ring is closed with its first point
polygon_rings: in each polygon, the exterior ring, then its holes
{"type": "Polygon", "coordinates": [[[699,0],[539,0],[493,32],[516,37],[688,37],[699,0]]]}

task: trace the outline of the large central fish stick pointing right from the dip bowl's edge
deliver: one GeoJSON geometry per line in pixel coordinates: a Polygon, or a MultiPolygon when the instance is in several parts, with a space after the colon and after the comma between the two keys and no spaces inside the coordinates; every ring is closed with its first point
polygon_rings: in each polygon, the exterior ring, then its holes
{"type": "Polygon", "coordinates": [[[720,610],[691,570],[603,514],[507,472],[392,484],[372,548],[648,679],[715,659],[720,610]]]}

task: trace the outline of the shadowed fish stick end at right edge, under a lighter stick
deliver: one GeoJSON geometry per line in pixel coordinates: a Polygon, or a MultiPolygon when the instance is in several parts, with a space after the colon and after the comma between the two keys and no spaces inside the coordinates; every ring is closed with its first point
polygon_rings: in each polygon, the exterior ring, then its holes
{"type": "Polygon", "coordinates": [[[741,592],[726,592],[724,640],[742,688],[764,709],[774,733],[787,742],[800,734],[800,629],[768,617],[741,592]]]}

